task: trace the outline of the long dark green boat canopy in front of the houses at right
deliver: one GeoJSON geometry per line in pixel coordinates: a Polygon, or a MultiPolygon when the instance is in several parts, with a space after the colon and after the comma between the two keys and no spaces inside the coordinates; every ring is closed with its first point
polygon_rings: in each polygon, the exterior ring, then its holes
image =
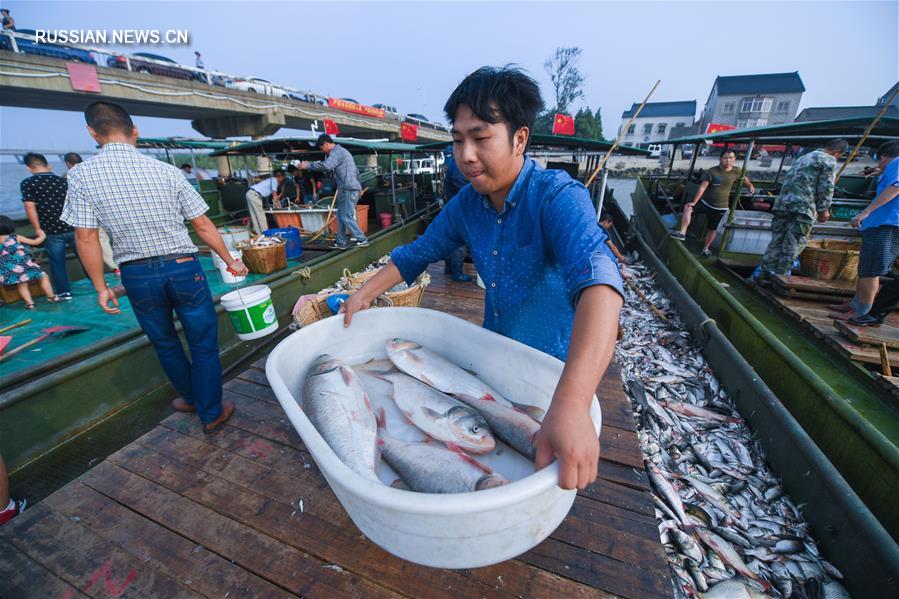
{"type": "MultiPolygon", "coordinates": [[[[700,133],[675,139],[666,139],[656,143],[683,145],[706,141],[716,144],[757,141],[766,144],[813,145],[837,138],[853,142],[861,138],[870,125],[871,118],[869,117],[804,121],[800,123],[784,123],[782,125],[767,125],[752,129],[728,129],[727,131],[715,133],[700,133]]],[[[885,116],[881,117],[871,131],[867,145],[878,146],[884,141],[897,138],[899,138],[899,118],[885,116]]]]}

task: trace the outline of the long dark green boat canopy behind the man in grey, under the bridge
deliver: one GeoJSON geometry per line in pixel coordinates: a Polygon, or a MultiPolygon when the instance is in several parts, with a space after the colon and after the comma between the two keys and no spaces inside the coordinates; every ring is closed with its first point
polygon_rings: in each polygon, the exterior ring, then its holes
{"type": "MultiPolygon", "coordinates": [[[[296,158],[316,159],[323,152],[315,147],[315,137],[270,137],[235,144],[213,152],[212,156],[269,156],[280,158],[291,156],[296,158]]],[[[334,142],[348,150],[350,154],[407,154],[432,153],[434,150],[423,150],[414,144],[403,144],[386,141],[369,141],[346,137],[335,137],[334,142]]],[[[444,144],[445,145],[445,144],[444,144]]]]}

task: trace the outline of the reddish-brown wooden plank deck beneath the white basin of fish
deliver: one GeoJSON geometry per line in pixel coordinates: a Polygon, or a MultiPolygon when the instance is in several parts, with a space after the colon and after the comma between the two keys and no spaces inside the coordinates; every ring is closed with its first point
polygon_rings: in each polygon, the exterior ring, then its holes
{"type": "MultiPolygon", "coordinates": [[[[483,292],[432,268],[426,307],[481,322],[483,292]]],[[[174,413],[0,528],[0,596],[661,597],[671,595],[629,400],[600,386],[599,480],[514,560],[440,570],[365,539],[319,474],[257,361],[206,436],[174,413]]],[[[15,489],[13,489],[15,491],[15,489]]]]}

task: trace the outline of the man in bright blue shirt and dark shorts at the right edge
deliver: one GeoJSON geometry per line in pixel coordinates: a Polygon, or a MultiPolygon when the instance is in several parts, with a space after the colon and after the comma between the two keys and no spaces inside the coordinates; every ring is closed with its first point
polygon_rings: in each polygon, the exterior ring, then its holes
{"type": "MultiPolygon", "coordinates": [[[[888,141],[877,149],[877,196],[849,223],[862,234],[855,297],[848,304],[830,306],[838,320],[866,316],[874,304],[880,277],[890,272],[899,258],[899,141],[888,141]]],[[[883,316],[879,316],[880,322],[883,316]]],[[[879,324],[879,322],[878,322],[879,324]]]]}

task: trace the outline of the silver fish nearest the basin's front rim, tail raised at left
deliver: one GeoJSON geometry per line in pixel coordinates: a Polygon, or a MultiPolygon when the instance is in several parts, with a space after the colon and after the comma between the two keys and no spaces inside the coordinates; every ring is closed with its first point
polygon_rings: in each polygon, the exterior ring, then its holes
{"type": "Polygon", "coordinates": [[[400,441],[387,433],[383,417],[378,424],[381,455],[413,491],[468,493],[509,482],[461,450],[438,443],[400,441]]]}

